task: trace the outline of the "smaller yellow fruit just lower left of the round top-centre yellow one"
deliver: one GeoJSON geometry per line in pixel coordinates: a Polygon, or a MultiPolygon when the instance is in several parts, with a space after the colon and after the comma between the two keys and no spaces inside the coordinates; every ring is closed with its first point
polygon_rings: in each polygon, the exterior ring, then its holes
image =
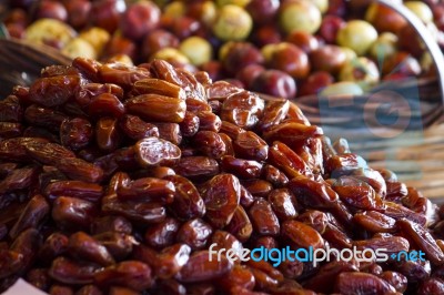
{"type": "Polygon", "coordinates": [[[192,64],[198,67],[210,61],[213,55],[213,48],[210,42],[196,35],[183,40],[179,50],[186,55],[192,64]]]}

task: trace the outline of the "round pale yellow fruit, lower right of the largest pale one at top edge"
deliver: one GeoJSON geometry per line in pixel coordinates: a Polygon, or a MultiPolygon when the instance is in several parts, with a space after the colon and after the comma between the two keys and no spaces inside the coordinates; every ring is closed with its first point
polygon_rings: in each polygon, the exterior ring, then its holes
{"type": "Polygon", "coordinates": [[[363,20],[351,20],[337,32],[336,42],[353,49],[357,55],[364,55],[376,39],[377,31],[372,24],[363,20]]]}

